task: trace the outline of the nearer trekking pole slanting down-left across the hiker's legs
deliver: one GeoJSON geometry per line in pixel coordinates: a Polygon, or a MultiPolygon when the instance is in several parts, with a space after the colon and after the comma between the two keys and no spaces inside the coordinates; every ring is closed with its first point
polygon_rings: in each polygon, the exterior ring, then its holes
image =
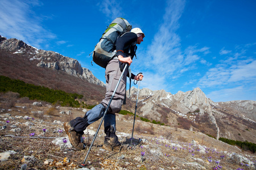
{"type": "Polygon", "coordinates": [[[105,112],[104,112],[104,115],[102,116],[100,125],[98,125],[98,129],[97,129],[97,131],[96,131],[96,134],[95,134],[94,137],[93,137],[92,143],[90,144],[90,147],[89,147],[89,150],[88,150],[88,152],[87,152],[87,154],[86,154],[86,156],[85,156],[84,162],[83,162],[81,165],[79,165],[79,167],[81,167],[81,168],[84,168],[84,167],[85,167],[85,161],[86,161],[86,159],[87,159],[87,157],[88,157],[88,155],[89,155],[89,153],[90,153],[90,150],[91,150],[91,148],[92,148],[92,146],[93,146],[93,143],[94,143],[94,141],[95,141],[95,139],[96,139],[96,137],[97,137],[97,135],[98,135],[98,131],[99,131],[100,128],[101,128],[101,124],[102,124],[102,122],[103,122],[103,120],[104,120],[104,118],[105,118],[105,116],[106,116],[106,113],[108,112],[109,105],[110,105],[110,103],[112,102],[112,100],[113,100],[113,98],[114,98],[115,91],[117,91],[117,87],[119,86],[119,83],[121,82],[121,79],[122,79],[122,77],[123,77],[123,74],[125,74],[125,70],[126,70],[126,68],[127,68],[127,65],[128,65],[128,63],[125,63],[125,67],[123,68],[123,71],[122,71],[122,74],[121,74],[121,76],[120,76],[120,78],[119,78],[119,80],[118,80],[117,86],[115,86],[115,90],[114,90],[114,92],[113,92],[113,94],[112,94],[112,96],[111,96],[111,98],[110,98],[110,100],[109,100],[108,107],[106,107],[106,110],[105,110],[105,112]]]}

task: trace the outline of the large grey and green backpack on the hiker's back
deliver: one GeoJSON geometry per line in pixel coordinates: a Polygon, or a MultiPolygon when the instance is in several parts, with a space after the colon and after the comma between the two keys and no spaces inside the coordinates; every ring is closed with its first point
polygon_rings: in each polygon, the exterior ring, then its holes
{"type": "Polygon", "coordinates": [[[131,25],[126,19],[114,19],[102,34],[100,42],[95,46],[93,51],[93,61],[97,65],[106,68],[109,61],[115,57],[115,42],[117,38],[130,30],[131,25]]]}

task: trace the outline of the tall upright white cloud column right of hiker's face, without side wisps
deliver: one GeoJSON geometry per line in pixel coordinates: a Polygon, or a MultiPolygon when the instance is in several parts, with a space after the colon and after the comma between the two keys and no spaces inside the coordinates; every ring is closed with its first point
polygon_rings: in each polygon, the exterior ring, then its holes
{"type": "Polygon", "coordinates": [[[162,75],[171,75],[184,61],[180,51],[180,37],[175,33],[179,28],[178,20],[184,5],[184,1],[168,1],[163,24],[160,25],[146,54],[146,66],[151,69],[154,66],[155,71],[162,75]]]}

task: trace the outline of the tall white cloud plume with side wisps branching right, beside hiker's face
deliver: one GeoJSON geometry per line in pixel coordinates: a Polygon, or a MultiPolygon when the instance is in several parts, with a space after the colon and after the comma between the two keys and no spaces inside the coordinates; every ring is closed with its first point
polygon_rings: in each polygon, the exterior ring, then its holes
{"type": "MultiPolygon", "coordinates": [[[[163,23],[156,32],[152,44],[148,46],[147,53],[143,58],[146,69],[164,76],[166,79],[179,78],[188,71],[197,69],[196,62],[210,53],[209,48],[197,45],[188,46],[184,52],[181,50],[180,36],[176,31],[179,29],[179,19],[183,14],[185,1],[168,1],[166,13],[163,16],[163,23]]],[[[201,62],[210,65],[209,62],[201,59],[201,62]]]]}

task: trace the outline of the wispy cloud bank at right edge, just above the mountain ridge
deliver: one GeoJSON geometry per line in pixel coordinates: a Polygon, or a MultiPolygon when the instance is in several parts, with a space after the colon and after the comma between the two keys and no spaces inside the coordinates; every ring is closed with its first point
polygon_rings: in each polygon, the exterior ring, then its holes
{"type": "Polygon", "coordinates": [[[256,84],[256,59],[245,57],[244,54],[244,52],[235,53],[232,57],[220,61],[199,80],[199,86],[224,88],[227,84],[229,86],[256,84]]]}

